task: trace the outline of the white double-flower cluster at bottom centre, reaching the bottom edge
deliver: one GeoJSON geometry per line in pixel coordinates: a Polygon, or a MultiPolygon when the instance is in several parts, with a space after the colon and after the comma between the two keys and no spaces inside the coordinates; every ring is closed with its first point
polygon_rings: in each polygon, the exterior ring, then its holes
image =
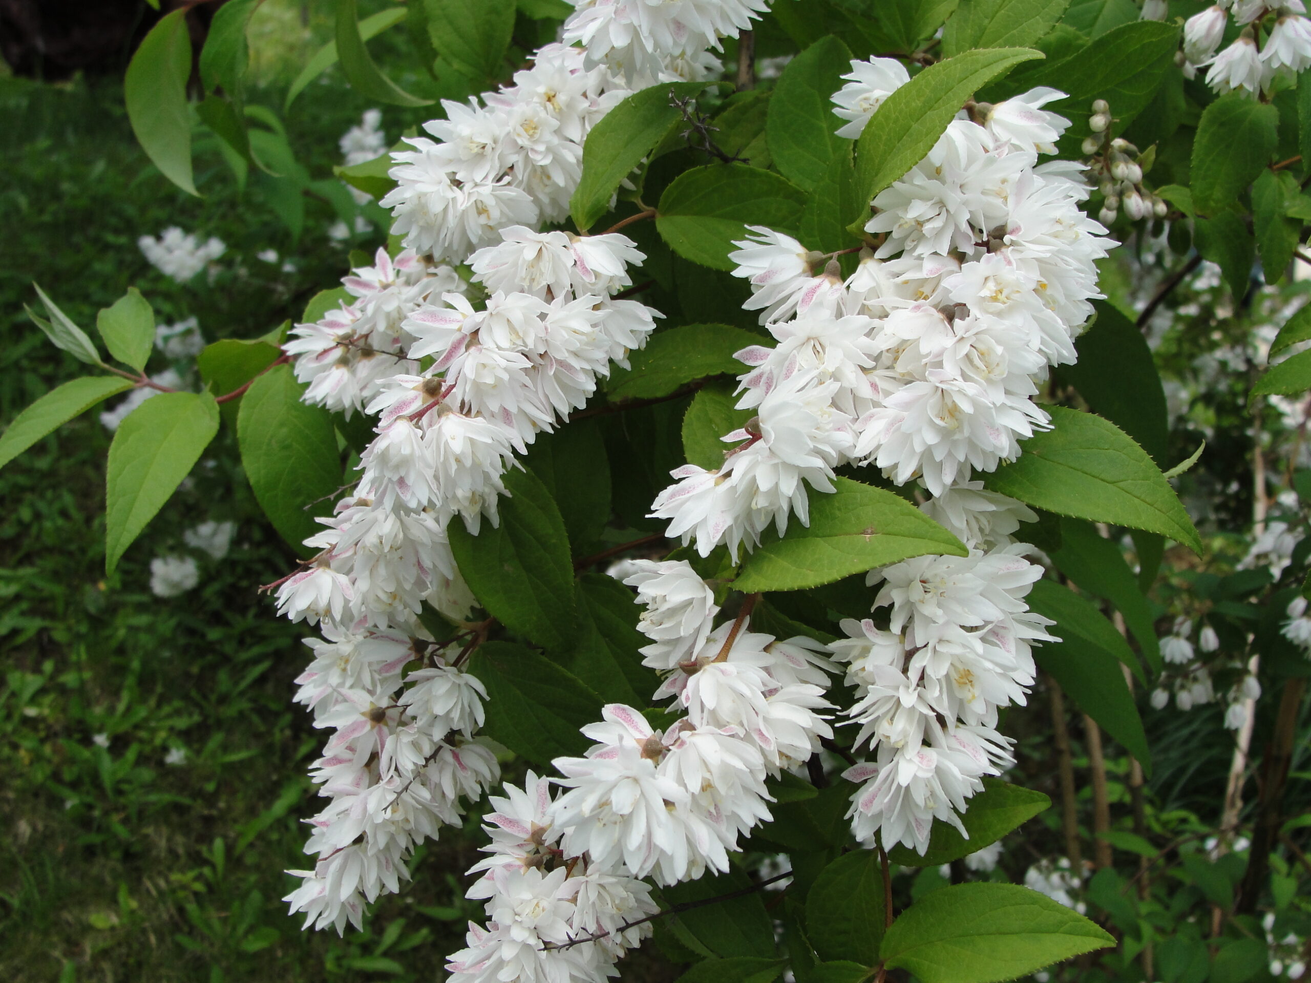
{"type": "Polygon", "coordinates": [[[657,697],[686,716],[663,731],[611,704],[583,727],[583,758],[557,758],[566,790],[528,773],[486,817],[490,856],[469,898],[485,925],[447,969],[460,980],[594,980],[649,935],[657,908],[640,878],[662,885],[729,869],[738,838],[770,820],[766,779],[802,767],[830,737],[827,671],[818,642],[776,641],[746,626],[750,606],[714,626],[714,594],[684,561],[635,561],[625,581],[645,611],[644,665],[665,676],[657,697]],[[633,924],[633,923],[641,924],[633,924]]]}

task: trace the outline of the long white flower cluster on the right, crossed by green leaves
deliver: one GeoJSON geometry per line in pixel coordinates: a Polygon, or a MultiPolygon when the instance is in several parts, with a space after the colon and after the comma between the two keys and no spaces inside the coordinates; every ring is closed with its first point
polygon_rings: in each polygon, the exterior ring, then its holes
{"type": "MultiPolygon", "coordinates": [[[[906,81],[889,59],[853,62],[835,110],[855,134],[906,81]]],[[[927,848],[933,818],[960,819],[966,800],[1012,760],[998,708],[1033,683],[1029,645],[1050,640],[1024,602],[1042,569],[1012,543],[1024,506],[982,490],[973,472],[1019,455],[1046,426],[1033,402],[1050,366],[1075,359],[1092,313],[1105,229],[1079,208],[1088,189],[1068,165],[1038,165],[1067,121],[1034,89],[975,105],[929,155],[872,202],[861,250],[843,279],[831,257],[753,231],[732,254],[750,280],[751,309],[773,347],[738,353],[738,408],[755,415],[724,440],[716,469],[684,465],[653,505],[669,536],[707,556],[735,557],[789,514],[808,523],[806,485],[832,490],[840,464],[873,464],[897,484],[919,481],[924,511],[969,548],[872,571],[889,628],[848,621],[835,657],[857,688],[850,714],[874,760],[846,777],[856,835],[927,848]]]]}

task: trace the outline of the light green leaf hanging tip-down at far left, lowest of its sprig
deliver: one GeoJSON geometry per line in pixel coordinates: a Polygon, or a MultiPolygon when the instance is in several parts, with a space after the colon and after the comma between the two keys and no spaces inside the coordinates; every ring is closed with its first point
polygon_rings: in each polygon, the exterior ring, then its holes
{"type": "Polygon", "coordinates": [[[191,392],[153,396],[118,425],[105,486],[106,573],[114,571],[218,431],[214,397],[191,392]]]}

